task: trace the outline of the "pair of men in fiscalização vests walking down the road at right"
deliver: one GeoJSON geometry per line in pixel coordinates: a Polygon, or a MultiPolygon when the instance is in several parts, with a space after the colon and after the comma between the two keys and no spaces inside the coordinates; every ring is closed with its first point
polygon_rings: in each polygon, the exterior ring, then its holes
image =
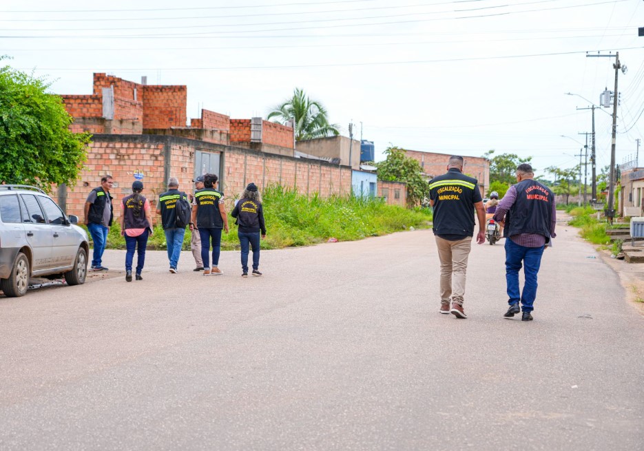
{"type": "MultiPolygon", "coordinates": [[[[481,191],[475,178],[463,174],[464,160],[452,156],[447,173],[430,182],[430,204],[433,207],[433,231],[440,260],[440,313],[467,318],[464,311],[465,281],[468,256],[475,229],[475,214],[479,223],[477,243],[485,242],[486,207],[488,214],[503,229],[506,238],[506,285],[508,311],[506,318],[521,313],[522,321],[532,321],[534,300],[537,297],[537,273],[543,250],[552,246],[557,222],[554,193],[534,180],[528,163],[517,167],[517,184],[497,202],[484,207],[481,191]],[[525,283],[519,286],[519,271],[523,266],[525,283]]],[[[490,196],[492,197],[492,196],[490,196]]]]}

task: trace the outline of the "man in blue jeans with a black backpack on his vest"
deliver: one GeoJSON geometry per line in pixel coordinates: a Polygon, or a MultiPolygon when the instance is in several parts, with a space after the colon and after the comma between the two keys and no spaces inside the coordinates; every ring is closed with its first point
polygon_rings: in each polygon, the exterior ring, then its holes
{"type": "MultiPolygon", "coordinates": [[[[167,244],[167,257],[170,260],[170,273],[176,274],[181,248],[183,247],[183,237],[185,227],[176,227],[176,202],[179,198],[188,199],[186,193],[179,191],[179,181],[175,177],[170,177],[167,182],[168,190],[159,196],[156,206],[156,214],[161,215],[163,231],[165,231],[165,241],[167,244]]],[[[192,230],[190,224],[190,230],[192,230]]]]}

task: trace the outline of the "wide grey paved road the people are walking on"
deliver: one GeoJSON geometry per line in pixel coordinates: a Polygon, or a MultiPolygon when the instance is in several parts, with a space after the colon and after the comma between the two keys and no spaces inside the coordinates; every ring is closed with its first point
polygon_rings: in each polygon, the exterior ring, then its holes
{"type": "Polygon", "coordinates": [[[503,242],[440,315],[431,231],[0,297],[0,450],[642,450],[644,318],[596,255],[559,227],[530,323],[503,242]]]}

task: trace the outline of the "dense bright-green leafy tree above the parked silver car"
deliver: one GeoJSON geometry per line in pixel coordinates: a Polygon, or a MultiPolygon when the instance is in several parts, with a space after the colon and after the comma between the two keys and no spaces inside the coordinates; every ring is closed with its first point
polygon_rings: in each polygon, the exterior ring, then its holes
{"type": "Polygon", "coordinates": [[[52,184],[78,180],[91,135],[70,132],[72,116],[48,87],[41,78],[0,68],[0,182],[50,191],[52,184]]]}

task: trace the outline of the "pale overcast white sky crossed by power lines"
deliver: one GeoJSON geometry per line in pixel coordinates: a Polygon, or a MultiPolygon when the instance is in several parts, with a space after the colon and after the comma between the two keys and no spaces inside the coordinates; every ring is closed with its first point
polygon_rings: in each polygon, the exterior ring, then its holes
{"type": "MultiPolygon", "coordinates": [[[[585,154],[592,114],[577,108],[614,90],[616,52],[627,67],[616,163],[636,159],[638,27],[641,0],[3,0],[0,54],[56,94],[91,94],[94,72],[187,85],[188,118],[200,108],[266,118],[300,87],[342,135],[353,123],[354,138],[373,141],[376,160],[392,145],[494,149],[532,157],[548,177],[546,167],[568,169],[585,154]]],[[[598,171],[610,164],[611,115],[595,110],[598,171]]]]}

